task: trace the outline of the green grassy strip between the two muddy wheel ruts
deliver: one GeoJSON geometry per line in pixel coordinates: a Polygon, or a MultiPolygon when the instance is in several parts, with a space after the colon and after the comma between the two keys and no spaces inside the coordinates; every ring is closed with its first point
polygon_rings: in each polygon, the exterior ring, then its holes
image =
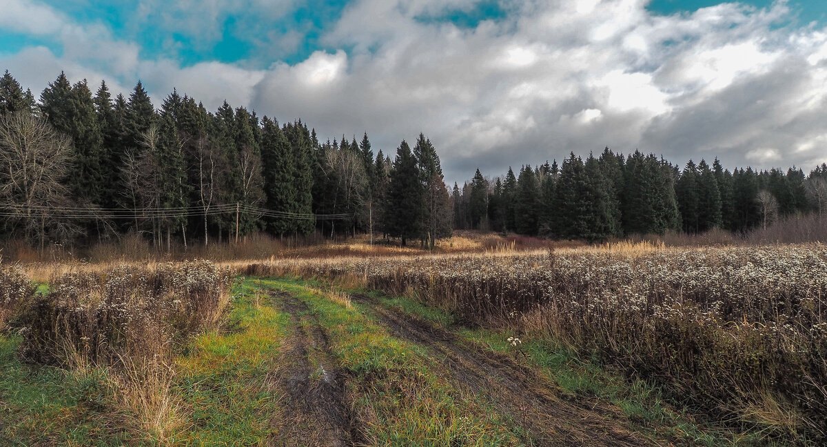
{"type": "Polygon", "coordinates": [[[480,397],[458,392],[433,369],[425,348],[390,336],[360,305],[327,300],[304,281],[274,283],[304,300],[327,329],[371,445],[523,444],[511,421],[480,397]]]}

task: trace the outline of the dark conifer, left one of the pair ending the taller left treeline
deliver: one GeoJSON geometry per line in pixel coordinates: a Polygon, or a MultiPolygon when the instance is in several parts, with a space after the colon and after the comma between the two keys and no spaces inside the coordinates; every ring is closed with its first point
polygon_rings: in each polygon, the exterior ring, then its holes
{"type": "Polygon", "coordinates": [[[417,237],[421,231],[422,197],[422,182],[416,158],[408,143],[403,140],[396,150],[394,167],[390,171],[384,213],[388,234],[402,238],[403,246],[409,238],[417,237]]]}

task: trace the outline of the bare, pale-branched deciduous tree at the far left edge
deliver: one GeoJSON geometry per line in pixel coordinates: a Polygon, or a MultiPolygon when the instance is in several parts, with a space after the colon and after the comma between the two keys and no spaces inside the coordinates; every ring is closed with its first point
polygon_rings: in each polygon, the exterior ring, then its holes
{"type": "Polygon", "coordinates": [[[0,209],[27,240],[69,238],[77,226],[57,217],[70,206],[62,180],[72,162],[69,137],[31,113],[0,117],[0,209]]]}

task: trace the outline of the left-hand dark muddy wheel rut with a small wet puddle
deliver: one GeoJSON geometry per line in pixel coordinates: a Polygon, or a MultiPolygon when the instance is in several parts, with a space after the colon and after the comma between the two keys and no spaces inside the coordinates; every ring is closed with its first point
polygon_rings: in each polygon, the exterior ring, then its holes
{"type": "Polygon", "coordinates": [[[285,394],[284,413],[273,424],[278,439],[272,446],[345,447],[361,445],[356,418],[345,393],[346,377],[330,353],[330,342],[308,306],[284,292],[272,295],[290,315],[293,334],[284,344],[280,368],[272,382],[285,394]]]}

